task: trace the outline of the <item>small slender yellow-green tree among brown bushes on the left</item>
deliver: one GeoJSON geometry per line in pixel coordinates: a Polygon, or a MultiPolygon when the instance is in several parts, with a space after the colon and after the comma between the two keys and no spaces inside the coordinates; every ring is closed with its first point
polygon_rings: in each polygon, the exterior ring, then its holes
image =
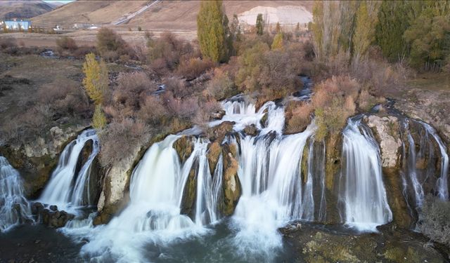
{"type": "Polygon", "coordinates": [[[108,90],[108,69],[105,62],[98,62],[94,53],[86,55],[86,61],[83,64],[83,86],[87,95],[94,100],[95,104],[103,103],[105,93],[108,90]]]}

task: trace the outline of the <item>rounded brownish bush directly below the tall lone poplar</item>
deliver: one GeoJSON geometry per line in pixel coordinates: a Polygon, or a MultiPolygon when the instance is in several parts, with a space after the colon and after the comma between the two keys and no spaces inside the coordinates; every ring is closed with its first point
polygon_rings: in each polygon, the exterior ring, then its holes
{"type": "Polygon", "coordinates": [[[238,90],[230,78],[229,72],[214,69],[214,77],[207,84],[207,93],[216,100],[224,100],[238,93],[238,90]]]}

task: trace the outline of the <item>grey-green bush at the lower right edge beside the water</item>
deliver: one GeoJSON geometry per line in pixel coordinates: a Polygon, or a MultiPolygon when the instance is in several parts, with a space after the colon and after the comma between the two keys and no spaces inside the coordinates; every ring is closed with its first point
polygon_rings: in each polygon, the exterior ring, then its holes
{"type": "Polygon", "coordinates": [[[427,196],[419,213],[418,229],[433,241],[450,245],[450,202],[427,196]]]}

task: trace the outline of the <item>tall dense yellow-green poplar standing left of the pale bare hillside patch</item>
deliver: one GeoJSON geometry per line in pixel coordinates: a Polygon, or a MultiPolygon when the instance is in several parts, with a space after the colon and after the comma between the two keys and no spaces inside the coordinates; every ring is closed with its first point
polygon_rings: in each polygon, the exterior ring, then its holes
{"type": "Polygon", "coordinates": [[[228,60],[228,18],[222,1],[202,1],[197,15],[197,36],[202,55],[214,62],[228,60]]]}

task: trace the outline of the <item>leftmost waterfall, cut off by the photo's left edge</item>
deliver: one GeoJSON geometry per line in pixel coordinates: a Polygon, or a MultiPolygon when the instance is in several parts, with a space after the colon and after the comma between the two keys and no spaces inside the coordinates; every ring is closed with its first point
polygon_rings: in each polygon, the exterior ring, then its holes
{"type": "Polygon", "coordinates": [[[31,219],[19,172],[0,156],[0,232],[31,219]]]}

